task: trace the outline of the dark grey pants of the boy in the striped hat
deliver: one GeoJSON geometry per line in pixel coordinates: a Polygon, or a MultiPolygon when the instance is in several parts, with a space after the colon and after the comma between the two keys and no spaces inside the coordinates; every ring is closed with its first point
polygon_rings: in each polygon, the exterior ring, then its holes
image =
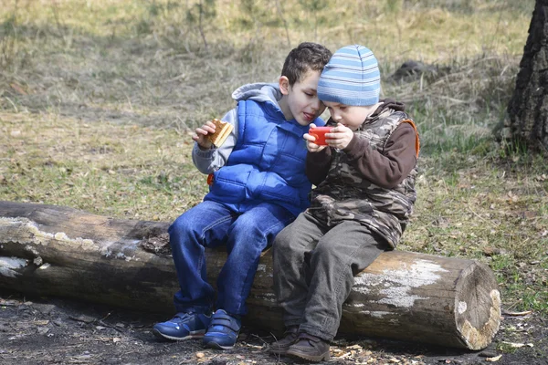
{"type": "Polygon", "coordinates": [[[303,213],[276,236],[272,249],[274,291],[284,325],[331,341],[353,276],[389,245],[357,222],[329,227],[303,213]]]}

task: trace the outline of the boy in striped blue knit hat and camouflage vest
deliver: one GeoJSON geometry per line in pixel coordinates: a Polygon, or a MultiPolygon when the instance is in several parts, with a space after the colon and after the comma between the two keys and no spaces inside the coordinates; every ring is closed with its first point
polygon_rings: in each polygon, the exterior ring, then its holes
{"type": "MultiPolygon", "coordinates": [[[[307,141],[311,207],[273,245],[274,290],[286,333],[279,355],[329,359],[353,276],[394,249],[416,200],[418,134],[402,103],[379,100],[380,73],[363,46],[342,47],[323,69],[327,146],[307,141]]],[[[312,124],[311,128],[315,126],[312,124]]]]}

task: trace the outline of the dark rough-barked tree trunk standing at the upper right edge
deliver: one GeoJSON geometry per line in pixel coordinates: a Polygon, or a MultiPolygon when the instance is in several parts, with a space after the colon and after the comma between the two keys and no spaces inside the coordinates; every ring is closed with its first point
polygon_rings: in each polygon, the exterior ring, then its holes
{"type": "Polygon", "coordinates": [[[502,137],[548,151],[548,0],[536,0],[502,137]]]}

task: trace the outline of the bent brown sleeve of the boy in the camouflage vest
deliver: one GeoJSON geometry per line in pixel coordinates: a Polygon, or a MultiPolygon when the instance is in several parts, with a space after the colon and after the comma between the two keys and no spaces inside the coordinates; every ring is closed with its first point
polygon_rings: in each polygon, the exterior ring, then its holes
{"type": "Polygon", "coordinates": [[[365,179],[391,189],[404,181],[415,167],[416,141],[415,128],[401,123],[386,141],[384,151],[372,149],[369,141],[354,135],[344,152],[365,179]]]}

